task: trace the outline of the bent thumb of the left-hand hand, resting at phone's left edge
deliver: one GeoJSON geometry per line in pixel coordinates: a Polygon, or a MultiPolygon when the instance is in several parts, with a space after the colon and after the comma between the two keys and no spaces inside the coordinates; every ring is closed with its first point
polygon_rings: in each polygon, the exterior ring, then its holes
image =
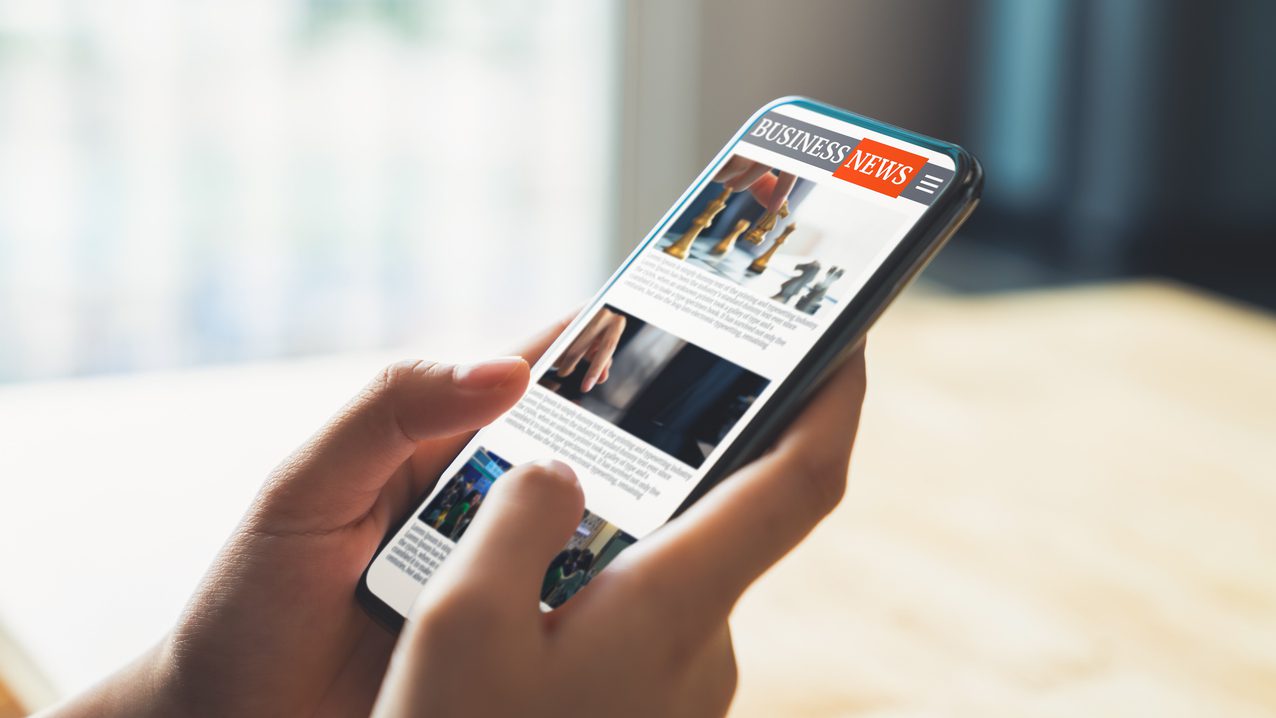
{"type": "Polygon", "coordinates": [[[254,518],[268,531],[295,532],[367,515],[419,441],[494,421],[522,397],[527,380],[522,357],[387,367],[274,471],[254,518]]]}

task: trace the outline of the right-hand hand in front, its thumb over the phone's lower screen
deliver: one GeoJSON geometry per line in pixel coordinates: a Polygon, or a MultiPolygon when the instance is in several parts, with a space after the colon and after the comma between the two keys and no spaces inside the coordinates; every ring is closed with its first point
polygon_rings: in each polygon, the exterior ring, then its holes
{"type": "Polygon", "coordinates": [[[550,613],[541,580],[581,520],[581,488],[558,463],[503,476],[417,599],[375,715],[725,713],[727,616],[841,499],[864,386],[861,352],[769,454],[550,613]]]}

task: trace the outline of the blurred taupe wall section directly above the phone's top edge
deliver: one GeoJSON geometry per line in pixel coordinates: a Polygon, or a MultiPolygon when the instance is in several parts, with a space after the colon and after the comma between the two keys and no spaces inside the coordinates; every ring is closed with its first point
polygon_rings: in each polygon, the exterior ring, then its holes
{"type": "Polygon", "coordinates": [[[783,94],[934,136],[962,134],[971,8],[944,0],[706,0],[699,147],[717,149],[749,114],[783,94]]]}

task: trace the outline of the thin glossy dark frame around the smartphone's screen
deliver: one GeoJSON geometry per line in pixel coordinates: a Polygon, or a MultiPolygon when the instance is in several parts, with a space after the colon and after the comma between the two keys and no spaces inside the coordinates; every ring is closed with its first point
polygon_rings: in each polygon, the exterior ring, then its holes
{"type": "MultiPolygon", "coordinates": [[[[674,511],[670,520],[685,511],[688,506],[694,504],[725,477],[771,446],[778,432],[792,421],[812,393],[828,376],[828,372],[836,369],[840,361],[857,347],[869,326],[889,306],[891,301],[917,275],[926,261],[957,231],[966,217],[970,216],[983,189],[984,175],[979,161],[956,144],[912,133],[806,97],[781,97],[764,105],[740,126],[731,140],[723,145],[717,156],[704,167],[704,171],[692,182],[690,187],[661,217],[660,222],[655,224],[643,241],[638,242],[633,253],[629,254],[625,261],[602,284],[577,318],[563,330],[563,334],[570,334],[581,321],[592,315],[611,286],[624,274],[634,259],[660,236],[660,232],[667,223],[697,196],[701,187],[709,181],[713,170],[730,157],[736,144],[740,143],[744,134],[754,122],[767,112],[787,105],[851,122],[901,142],[944,154],[953,161],[953,180],[947,187],[939,190],[935,201],[917,218],[912,228],[896,245],[894,250],[887,255],[878,270],[873,273],[864,287],[851,298],[846,309],[833,320],[824,334],[817,339],[814,347],[803,356],[789,376],[781,380],[771,400],[758,411],[757,416],[741,430],[736,440],[723,449],[722,455],[709,468],[697,487],[692,490],[686,500],[674,511]]],[[[555,346],[558,342],[559,339],[555,339],[555,346]]],[[[554,346],[550,347],[550,352],[553,351],[554,346]]],[[[389,541],[416,515],[421,501],[427,496],[429,491],[420,496],[412,504],[412,509],[394,522],[385,533],[376,547],[376,552],[373,553],[373,559],[364,568],[355,592],[364,610],[392,631],[398,631],[403,626],[404,616],[373,593],[367,585],[367,571],[371,569],[373,562],[382,555],[382,551],[389,545],[389,541]]]]}

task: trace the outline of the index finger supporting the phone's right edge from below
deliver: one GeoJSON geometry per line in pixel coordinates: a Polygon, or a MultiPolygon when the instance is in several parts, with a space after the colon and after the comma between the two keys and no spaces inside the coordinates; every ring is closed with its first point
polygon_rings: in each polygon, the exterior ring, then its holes
{"type": "Polygon", "coordinates": [[[837,506],[864,390],[861,348],[819,389],[773,451],[634,547],[632,569],[651,590],[667,590],[670,601],[657,596],[653,603],[669,606],[676,613],[670,620],[712,625],[837,506]]]}

